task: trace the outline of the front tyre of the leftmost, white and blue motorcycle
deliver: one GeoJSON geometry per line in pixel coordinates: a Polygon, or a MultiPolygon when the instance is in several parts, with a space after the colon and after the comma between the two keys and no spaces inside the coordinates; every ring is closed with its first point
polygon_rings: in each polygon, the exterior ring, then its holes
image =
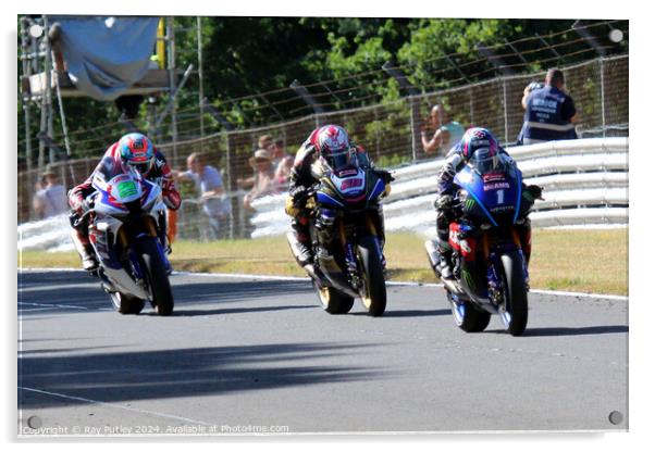
{"type": "Polygon", "coordinates": [[[171,315],[173,312],[173,292],[164,261],[157,246],[157,239],[140,237],[136,240],[134,248],[143,263],[141,269],[148,282],[155,311],[159,315],[171,315]]]}

